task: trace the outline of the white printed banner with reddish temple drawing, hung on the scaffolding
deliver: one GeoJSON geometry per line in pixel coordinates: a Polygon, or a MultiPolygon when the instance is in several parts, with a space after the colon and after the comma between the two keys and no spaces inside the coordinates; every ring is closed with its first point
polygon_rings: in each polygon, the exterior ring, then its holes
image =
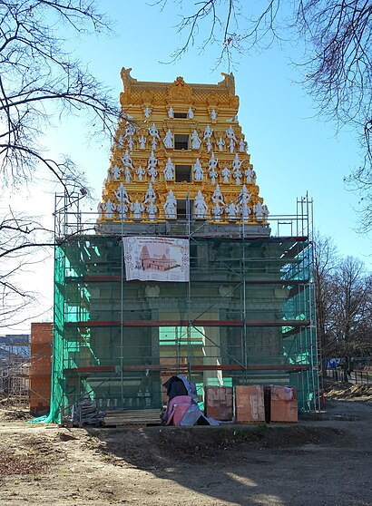
{"type": "Polygon", "coordinates": [[[189,241],[181,238],[123,238],[128,281],[189,281],[189,241]]]}

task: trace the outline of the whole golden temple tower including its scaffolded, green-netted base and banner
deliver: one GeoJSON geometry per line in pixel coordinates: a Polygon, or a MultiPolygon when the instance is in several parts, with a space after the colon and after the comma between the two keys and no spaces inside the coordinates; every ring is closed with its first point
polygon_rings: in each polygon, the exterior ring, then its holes
{"type": "Polygon", "coordinates": [[[56,199],[50,419],[81,399],[161,410],[175,375],[201,406],[206,387],[275,384],[318,409],[311,201],[269,214],[232,73],[121,76],[97,214],[56,199]]]}

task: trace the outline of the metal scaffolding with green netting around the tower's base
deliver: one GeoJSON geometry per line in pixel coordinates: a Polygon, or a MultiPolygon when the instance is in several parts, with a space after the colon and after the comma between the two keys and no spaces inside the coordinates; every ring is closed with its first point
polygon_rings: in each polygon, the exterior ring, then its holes
{"type": "Polygon", "coordinates": [[[83,398],[103,409],[162,406],[162,383],[291,384],[316,411],[318,359],[312,286],[312,201],[269,224],[97,225],[81,197],[56,198],[51,419],[83,398]],[[273,234],[275,231],[275,235],[273,234]],[[128,281],[122,238],[187,238],[186,283],[128,281]]]}

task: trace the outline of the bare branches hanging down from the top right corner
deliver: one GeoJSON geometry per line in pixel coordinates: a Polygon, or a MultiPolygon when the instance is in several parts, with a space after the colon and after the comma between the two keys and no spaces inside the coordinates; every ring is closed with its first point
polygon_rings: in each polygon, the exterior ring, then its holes
{"type": "MultiPolygon", "coordinates": [[[[162,8],[169,0],[159,0],[162,8]]],[[[201,0],[182,6],[178,31],[184,42],[177,60],[201,40],[218,48],[218,64],[230,68],[234,54],[265,49],[274,41],[299,43],[301,80],[326,119],[350,126],[360,140],[361,163],[348,177],[361,193],[362,220],[372,229],[372,4],[371,0],[201,0]],[[186,14],[184,14],[186,13],[186,14]]]]}

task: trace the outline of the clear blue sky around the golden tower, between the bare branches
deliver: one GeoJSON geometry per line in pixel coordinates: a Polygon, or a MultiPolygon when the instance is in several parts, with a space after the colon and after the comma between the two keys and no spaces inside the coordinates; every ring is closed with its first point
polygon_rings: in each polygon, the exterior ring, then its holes
{"type": "MultiPolygon", "coordinates": [[[[218,83],[220,73],[227,72],[224,66],[213,70],[220,54],[217,44],[202,54],[195,46],[176,63],[160,63],[167,61],[180,44],[174,28],[180,15],[178,3],[169,3],[163,11],[142,0],[107,0],[99,4],[113,19],[113,34],[83,36],[69,44],[76,56],[89,64],[91,72],[112,88],[117,101],[122,92],[123,66],[132,67],[132,76],[140,81],[173,82],[181,75],[189,83],[218,83]]],[[[315,228],[334,239],[341,255],[360,257],[370,268],[370,238],[354,231],[357,195],[343,182],[359,162],[354,133],[345,130],[336,135],[335,125],[317,118],[313,103],[296,83],[301,76],[290,64],[291,58],[299,61],[300,48],[283,44],[282,48],[271,47],[260,54],[243,54],[233,69],[240,96],[240,125],[257,172],[260,196],[271,215],[295,214],[296,199],[308,192],[314,199],[315,228]]],[[[92,125],[84,120],[63,117],[54,125],[44,145],[52,156],[72,156],[85,172],[98,203],[108,169],[110,142],[90,138],[92,125]]],[[[40,185],[24,190],[20,205],[49,217],[52,224],[54,190],[40,185]]],[[[30,272],[30,284],[37,286],[38,276],[30,272]]],[[[50,307],[52,261],[44,264],[43,276],[43,304],[50,307]]]]}

